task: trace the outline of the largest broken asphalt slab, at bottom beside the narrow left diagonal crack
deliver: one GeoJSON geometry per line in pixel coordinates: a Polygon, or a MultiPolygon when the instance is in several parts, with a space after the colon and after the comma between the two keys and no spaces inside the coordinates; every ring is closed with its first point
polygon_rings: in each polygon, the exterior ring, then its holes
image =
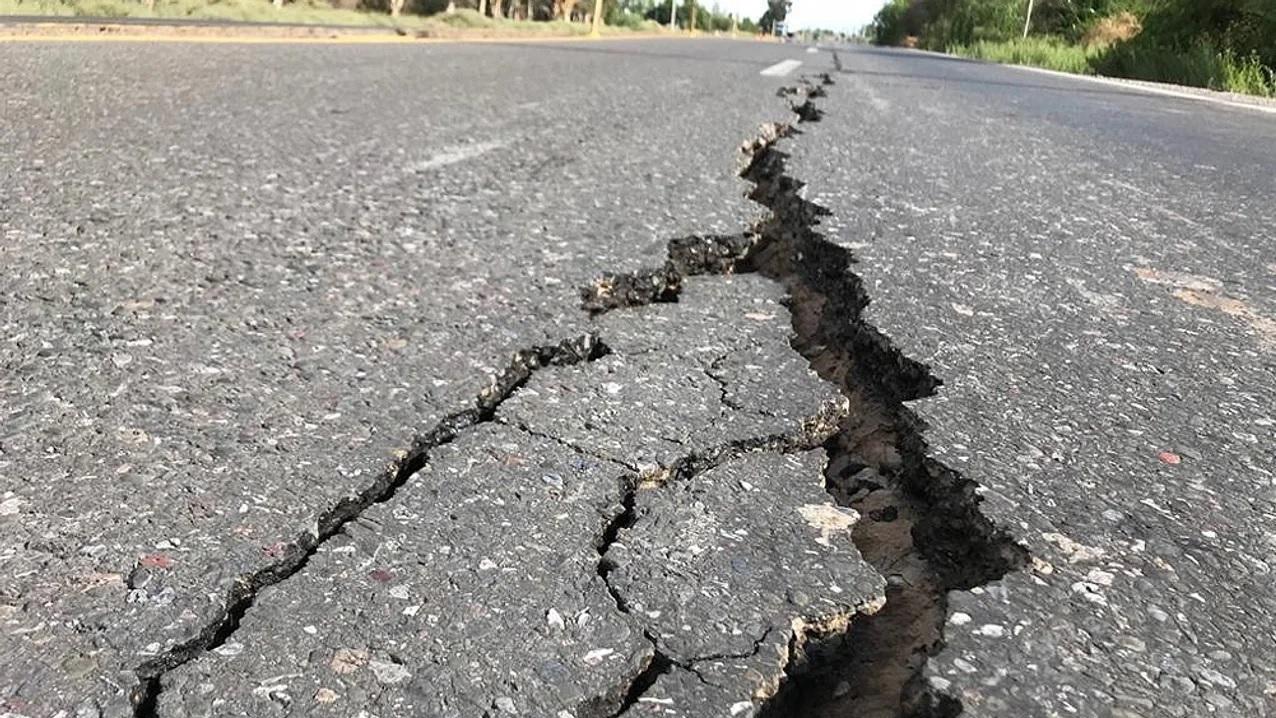
{"type": "Polygon", "coordinates": [[[174,671],[161,715],[586,714],[651,644],[595,545],[624,467],[482,425],[435,451],[239,631],[174,671]]]}

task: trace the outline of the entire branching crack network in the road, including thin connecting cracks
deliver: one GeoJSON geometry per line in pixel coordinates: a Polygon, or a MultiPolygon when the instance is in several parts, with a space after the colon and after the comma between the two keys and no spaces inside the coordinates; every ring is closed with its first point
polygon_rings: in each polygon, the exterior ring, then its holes
{"type": "MultiPolygon", "coordinates": [[[[139,666],[140,687],[133,699],[135,714],[148,718],[166,713],[161,699],[170,673],[232,645],[232,638],[263,589],[299,576],[330,539],[348,533],[347,529],[362,520],[369,509],[394,499],[399,488],[426,467],[431,451],[485,423],[553,440],[582,457],[627,469],[619,477],[615,509],[605,517],[593,545],[596,574],[615,611],[643,626],[642,639],[648,649],[644,656],[635,654],[637,663],[630,663],[632,672],[623,682],[578,704],[578,715],[678,714],[669,695],[695,692],[702,687],[716,690],[732,685],[732,680],[739,684],[740,678],[732,676],[740,672],[741,662],[750,661],[780,668],[767,672],[750,667],[753,677],[746,685],[752,686],[752,703],[748,708],[762,715],[948,717],[958,713],[961,707],[952,698],[933,694],[920,680],[926,657],[943,645],[946,593],[995,580],[1022,565],[1026,553],[980,514],[974,482],[926,455],[921,437],[924,426],[905,402],[933,394],[938,380],[925,366],[902,356],[888,338],[864,320],[869,300],[852,270],[852,255],[817,231],[827,210],[806,201],[803,182],[786,171],[787,156],[781,143],[800,135],[801,124],[820,120],[823,112],[814,101],[824,96],[824,87],[831,84],[833,80],[823,75],[782,91],[795,120],[764,126],[741,148],[745,167],[740,176],[753,185],[749,196],[769,210],[767,218],[740,235],[674,240],[662,267],[605,274],[584,287],[582,307],[601,318],[614,310],[678,302],[690,277],[732,273],[764,277],[786,292],[791,346],[824,383],[836,386],[843,398],[840,411],[805,417],[798,431],[748,435],[711,448],[684,446],[683,441],[671,437],[667,443],[679,446],[676,458],[644,463],[609,454],[607,446],[573,439],[554,426],[532,426],[535,422],[528,420],[532,414],[519,414],[517,406],[510,416],[498,416],[498,409],[516,398],[538,370],[570,367],[607,356],[605,339],[591,334],[518,352],[480,393],[473,408],[449,416],[416,440],[392,471],[379,476],[359,496],[327,511],[314,534],[297,538],[279,561],[236,582],[217,621],[198,636],[139,666]],[[740,460],[782,459],[819,446],[827,460],[815,471],[823,473],[823,488],[837,504],[857,511],[860,520],[852,539],[864,559],[886,578],[884,603],[863,596],[849,597],[833,611],[827,607],[804,610],[783,630],[775,625],[759,626],[759,633],[749,639],[749,650],[698,653],[686,647],[670,647],[674,636],[661,624],[661,611],[634,608],[644,602],[658,602],[660,597],[646,596],[646,584],[627,574],[641,573],[643,561],[652,560],[642,553],[644,546],[649,553],[658,552],[643,543],[642,529],[648,528],[643,522],[676,513],[679,501],[686,499],[679,492],[698,491],[697,501],[729,504],[722,496],[711,496],[713,486],[722,482],[707,477],[722,472],[735,481],[738,477],[731,472],[739,471],[740,460]],[[704,488],[706,483],[711,487],[704,488]],[[653,509],[646,505],[648,502],[662,509],[653,509]],[[624,582],[618,583],[619,579],[624,582]],[[703,671],[702,663],[708,664],[703,671]],[[692,687],[686,680],[692,681],[692,687]]],[[[702,367],[718,394],[723,416],[727,409],[741,409],[731,397],[730,379],[718,371],[725,358],[725,355],[716,356],[702,367]]],[[[535,400],[535,397],[528,399],[535,400]]],[[[812,467],[806,462],[805,468],[812,467]]],[[[798,471],[799,467],[790,468],[798,471]]],[[[785,469],[772,465],[768,471],[785,469]]],[[[401,666],[402,662],[392,656],[389,664],[401,666]]],[[[283,705],[292,700],[282,691],[265,695],[283,705]]],[[[499,708],[487,710],[499,712],[499,708]]]]}

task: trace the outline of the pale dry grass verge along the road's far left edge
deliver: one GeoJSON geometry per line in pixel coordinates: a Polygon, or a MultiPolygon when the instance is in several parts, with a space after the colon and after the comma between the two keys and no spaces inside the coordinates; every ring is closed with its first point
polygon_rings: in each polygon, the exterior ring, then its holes
{"type": "MultiPolygon", "coordinates": [[[[269,0],[156,0],[153,9],[138,0],[0,0],[0,15],[83,17],[83,18],[162,18],[191,20],[265,22],[295,24],[355,26],[397,28],[427,37],[521,37],[587,34],[587,23],[565,20],[513,20],[480,15],[471,9],[435,15],[345,10],[323,0],[295,0],[281,8],[269,0]]],[[[632,27],[605,26],[604,33],[661,32],[656,23],[632,27]]]]}

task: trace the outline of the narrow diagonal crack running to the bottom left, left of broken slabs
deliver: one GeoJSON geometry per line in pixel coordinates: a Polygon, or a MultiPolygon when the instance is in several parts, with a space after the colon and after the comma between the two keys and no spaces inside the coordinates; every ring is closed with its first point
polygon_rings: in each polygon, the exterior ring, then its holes
{"type": "Polygon", "coordinates": [[[388,471],[380,472],[373,483],[319,517],[315,534],[306,533],[293,539],[279,561],[236,579],[221,615],[204,626],[199,634],[138,666],[134,672],[139,685],[131,696],[134,715],[138,718],[156,715],[158,695],[163,690],[163,673],[223,645],[239,629],[240,621],[253,607],[263,588],[300,573],[324,542],[341,533],[350,522],[357,519],[369,508],[393,499],[396,492],[425,465],[430,451],[450,444],[467,429],[494,421],[501,402],[527,384],[537,370],[546,366],[593,361],[610,352],[611,349],[595,334],[584,334],[558,344],[536,346],[514,352],[500,374],[493,376],[489,385],[478,392],[472,408],[444,417],[425,435],[415,439],[412,448],[398,457],[388,471]]]}

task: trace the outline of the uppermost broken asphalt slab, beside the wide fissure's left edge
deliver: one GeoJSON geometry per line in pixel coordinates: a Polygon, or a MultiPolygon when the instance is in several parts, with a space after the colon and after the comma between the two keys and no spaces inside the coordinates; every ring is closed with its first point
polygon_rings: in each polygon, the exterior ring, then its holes
{"type": "Polygon", "coordinates": [[[644,478],[743,448],[809,448],[846,399],[789,346],[782,291],[762,277],[690,278],[676,304],[612,312],[615,353],[540,372],[498,413],[644,478]]]}

